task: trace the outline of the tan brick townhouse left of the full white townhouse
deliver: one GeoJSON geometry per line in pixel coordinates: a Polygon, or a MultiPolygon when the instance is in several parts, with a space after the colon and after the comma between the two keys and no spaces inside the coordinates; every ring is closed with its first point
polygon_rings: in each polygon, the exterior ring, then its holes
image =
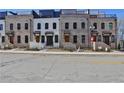
{"type": "Polygon", "coordinates": [[[29,47],[33,29],[33,15],[7,15],[5,17],[6,45],[29,47]]]}

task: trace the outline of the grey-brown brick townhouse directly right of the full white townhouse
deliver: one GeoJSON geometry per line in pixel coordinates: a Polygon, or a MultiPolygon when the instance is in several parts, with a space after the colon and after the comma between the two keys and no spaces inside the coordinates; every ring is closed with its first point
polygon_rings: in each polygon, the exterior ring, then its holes
{"type": "MultiPolygon", "coordinates": [[[[63,10],[60,15],[61,47],[71,43],[76,47],[89,46],[88,14],[78,14],[76,10],[63,10]],[[69,12],[68,12],[69,11],[69,12]]],[[[70,45],[69,45],[70,46],[70,45]]],[[[68,46],[68,47],[69,47],[68,46]]]]}

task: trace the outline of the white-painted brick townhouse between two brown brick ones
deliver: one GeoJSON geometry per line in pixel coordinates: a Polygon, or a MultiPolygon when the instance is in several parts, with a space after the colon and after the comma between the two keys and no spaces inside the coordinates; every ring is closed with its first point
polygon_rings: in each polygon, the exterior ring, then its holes
{"type": "Polygon", "coordinates": [[[59,48],[59,18],[34,19],[33,41],[30,48],[59,48]]]}

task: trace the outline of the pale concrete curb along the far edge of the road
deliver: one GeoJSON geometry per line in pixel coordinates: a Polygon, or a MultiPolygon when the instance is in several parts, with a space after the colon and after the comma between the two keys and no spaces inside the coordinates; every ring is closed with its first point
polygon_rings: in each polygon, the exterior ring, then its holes
{"type": "Polygon", "coordinates": [[[0,53],[11,54],[41,54],[41,55],[104,55],[104,56],[124,56],[124,53],[106,52],[42,52],[42,51],[0,51],[0,53]]]}

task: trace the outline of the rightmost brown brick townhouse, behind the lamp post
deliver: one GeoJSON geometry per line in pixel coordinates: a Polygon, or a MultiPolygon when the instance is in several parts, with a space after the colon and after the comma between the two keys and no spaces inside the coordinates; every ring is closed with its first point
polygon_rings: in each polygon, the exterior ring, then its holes
{"type": "Polygon", "coordinates": [[[90,14],[89,26],[91,39],[96,42],[97,47],[117,48],[116,15],[90,14]]]}

